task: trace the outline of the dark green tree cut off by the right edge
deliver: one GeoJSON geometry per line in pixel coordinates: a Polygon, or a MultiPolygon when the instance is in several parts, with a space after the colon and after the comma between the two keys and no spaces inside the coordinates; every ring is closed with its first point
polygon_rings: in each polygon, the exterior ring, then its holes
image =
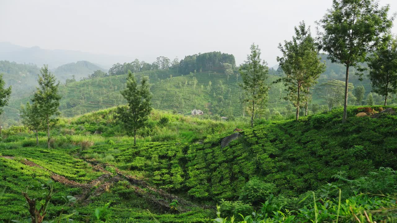
{"type": "Polygon", "coordinates": [[[386,106],[387,96],[397,93],[397,38],[385,36],[369,57],[368,67],[372,91],[385,97],[386,106]]]}

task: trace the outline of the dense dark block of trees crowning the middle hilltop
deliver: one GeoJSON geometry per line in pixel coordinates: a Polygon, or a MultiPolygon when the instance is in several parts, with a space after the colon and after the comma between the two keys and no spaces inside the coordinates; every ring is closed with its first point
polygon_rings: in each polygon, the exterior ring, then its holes
{"type": "Polygon", "coordinates": [[[182,73],[190,73],[194,71],[223,71],[224,63],[231,64],[232,68],[236,66],[233,54],[225,54],[221,52],[209,52],[204,54],[193,54],[185,56],[179,62],[179,69],[182,73]]]}

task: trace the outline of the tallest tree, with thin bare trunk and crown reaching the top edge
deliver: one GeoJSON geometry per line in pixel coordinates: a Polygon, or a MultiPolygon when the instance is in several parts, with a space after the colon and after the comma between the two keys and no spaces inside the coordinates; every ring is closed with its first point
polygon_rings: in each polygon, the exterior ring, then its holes
{"type": "Polygon", "coordinates": [[[389,5],[379,7],[375,0],[333,0],[332,8],[318,22],[320,48],[327,52],[333,63],[346,67],[345,98],[342,122],[346,121],[349,92],[349,67],[362,75],[360,62],[374,49],[383,33],[393,25],[387,17],[389,5]]]}

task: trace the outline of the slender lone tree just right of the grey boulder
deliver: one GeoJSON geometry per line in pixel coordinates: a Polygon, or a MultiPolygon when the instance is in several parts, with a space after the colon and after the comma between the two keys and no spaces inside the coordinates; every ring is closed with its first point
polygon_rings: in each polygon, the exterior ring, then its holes
{"type": "Polygon", "coordinates": [[[246,93],[247,102],[251,107],[251,128],[254,127],[255,102],[265,103],[268,93],[268,86],[265,81],[268,78],[269,69],[266,62],[260,58],[260,49],[258,45],[252,44],[251,54],[247,55],[246,65],[239,70],[243,78],[242,88],[246,93]]]}

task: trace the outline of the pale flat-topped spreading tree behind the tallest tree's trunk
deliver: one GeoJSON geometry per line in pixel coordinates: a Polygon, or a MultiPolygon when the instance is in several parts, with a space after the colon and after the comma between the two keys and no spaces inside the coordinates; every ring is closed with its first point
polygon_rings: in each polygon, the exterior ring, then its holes
{"type": "MultiPolygon", "coordinates": [[[[354,88],[352,83],[349,83],[349,88],[354,88]]],[[[332,110],[333,107],[343,103],[344,89],[345,83],[339,80],[327,81],[318,86],[318,90],[322,95],[321,97],[324,98],[328,104],[328,110],[332,110]]],[[[349,94],[352,98],[354,97],[351,92],[349,92],[349,94]]]]}

